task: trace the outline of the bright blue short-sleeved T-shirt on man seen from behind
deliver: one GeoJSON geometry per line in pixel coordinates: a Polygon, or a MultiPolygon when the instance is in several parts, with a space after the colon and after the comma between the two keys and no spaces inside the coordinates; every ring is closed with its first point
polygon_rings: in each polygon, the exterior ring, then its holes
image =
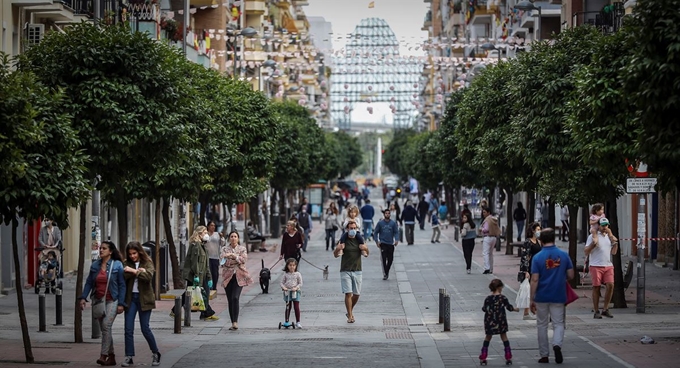
{"type": "Polygon", "coordinates": [[[556,246],[543,247],[531,259],[532,276],[538,274],[536,303],[567,302],[567,270],[574,268],[569,255],[556,246]]]}

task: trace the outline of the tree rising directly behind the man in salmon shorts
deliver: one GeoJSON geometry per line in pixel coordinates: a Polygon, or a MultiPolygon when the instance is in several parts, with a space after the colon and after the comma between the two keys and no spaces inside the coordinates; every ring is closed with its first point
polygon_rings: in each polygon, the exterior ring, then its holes
{"type": "MultiPolygon", "coordinates": [[[[584,165],[597,170],[598,181],[623,183],[627,176],[624,159],[639,157],[634,142],[642,134],[635,107],[623,90],[627,77],[621,70],[630,63],[632,38],[627,29],[603,37],[596,44],[591,62],[575,71],[575,89],[567,102],[569,115],[566,128],[572,132],[576,151],[584,165]]],[[[617,195],[621,194],[617,192],[617,195]]],[[[608,198],[615,204],[616,198],[608,198]]],[[[619,233],[615,208],[606,211],[610,227],[619,233]]],[[[614,256],[621,264],[621,252],[614,256]]],[[[615,274],[614,305],[626,305],[623,272],[615,274]]]]}

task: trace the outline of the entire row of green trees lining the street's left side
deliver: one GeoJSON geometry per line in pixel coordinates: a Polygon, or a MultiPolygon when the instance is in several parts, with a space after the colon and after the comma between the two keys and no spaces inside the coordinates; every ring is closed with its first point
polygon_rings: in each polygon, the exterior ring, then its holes
{"type": "MultiPolygon", "coordinates": [[[[325,133],[304,107],[272,102],[125,25],[81,23],[48,34],[17,60],[3,56],[0,127],[0,215],[13,225],[29,363],[18,218],[48,215],[66,227],[68,209],[80,206],[80,295],[91,190],[117,208],[119,224],[127,223],[131,200],[162,202],[173,282],[181,287],[171,199],[242,203],[269,183],[280,191],[303,188],[347,175],[361,162],[356,139],[325,133]]],[[[128,238],[126,226],[118,232],[121,241],[128,238]]],[[[75,310],[75,341],[82,342],[75,310]]]]}

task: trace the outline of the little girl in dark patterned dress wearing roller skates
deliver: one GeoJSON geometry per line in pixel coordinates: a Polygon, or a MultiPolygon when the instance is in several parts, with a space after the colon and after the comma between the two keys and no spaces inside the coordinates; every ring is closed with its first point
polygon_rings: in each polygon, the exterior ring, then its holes
{"type": "Polygon", "coordinates": [[[505,310],[511,312],[519,312],[519,309],[513,307],[508,298],[503,295],[503,281],[499,279],[491,280],[489,289],[491,295],[484,300],[484,345],[482,346],[482,353],[479,355],[479,363],[486,365],[486,357],[489,352],[489,342],[493,335],[501,335],[503,346],[505,347],[505,364],[512,364],[512,350],[510,349],[510,341],[508,341],[508,320],[505,316],[505,310]]]}

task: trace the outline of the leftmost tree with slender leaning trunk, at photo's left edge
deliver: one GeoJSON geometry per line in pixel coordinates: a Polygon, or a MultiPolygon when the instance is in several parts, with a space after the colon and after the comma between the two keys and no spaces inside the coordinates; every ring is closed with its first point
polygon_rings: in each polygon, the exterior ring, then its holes
{"type": "Polygon", "coordinates": [[[0,55],[0,215],[12,224],[19,320],[26,362],[33,363],[26,323],[19,247],[18,218],[27,222],[43,215],[68,227],[68,208],[88,195],[84,173],[87,156],[71,122],[61,109],[64,94],[40,84],[30,72],[11,71],[0,55]]]}

